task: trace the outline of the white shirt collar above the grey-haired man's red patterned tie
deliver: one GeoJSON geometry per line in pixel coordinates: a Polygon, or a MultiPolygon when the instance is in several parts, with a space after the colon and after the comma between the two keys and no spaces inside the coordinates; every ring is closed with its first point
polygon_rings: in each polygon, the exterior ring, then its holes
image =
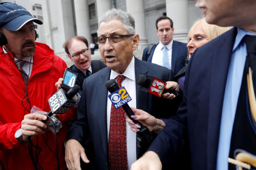
{"type": "MultiPolygon", "coordinates": [[[[134,59],[134,56],[133,56],[131,63],[128,65],[128,67],[126,68],[126,70],[122,74],[126,78],[129,78],[133,81],[135,81],[135,63],[134,63],[134,61],[135,61],[135,59],[134,59]]],[[[117,73],[116,71],[111,70],[110,79],[115,79],[118,75],[120,75],[120,74],[117,73]]]]}

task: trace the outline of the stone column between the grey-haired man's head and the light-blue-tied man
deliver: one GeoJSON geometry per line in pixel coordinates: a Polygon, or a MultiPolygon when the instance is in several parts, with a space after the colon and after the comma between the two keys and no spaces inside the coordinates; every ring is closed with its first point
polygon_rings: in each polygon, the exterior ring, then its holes
{"type": "Polygon", "coordinates": [[[138,50],[143,50],[148,46],[148,39],[146,37],[145,29],[145,13],[143,0],[126,0],[126,10],[135,20],[136,33],[140,36],[140,43],[138,50]]]}

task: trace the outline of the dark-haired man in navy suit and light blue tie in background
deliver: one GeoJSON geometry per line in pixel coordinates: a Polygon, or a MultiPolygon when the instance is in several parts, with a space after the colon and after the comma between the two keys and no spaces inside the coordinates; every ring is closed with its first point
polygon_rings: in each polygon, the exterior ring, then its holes
{"type": "Polygon", "coordinates": [[[188,48],[186,43],[173,41],[173,33],[172,19],[166,16],[157,18],[156,34],[160,41],[143,50],[142,60],[172,69],[176,75],[185,66],[188,48]]]}

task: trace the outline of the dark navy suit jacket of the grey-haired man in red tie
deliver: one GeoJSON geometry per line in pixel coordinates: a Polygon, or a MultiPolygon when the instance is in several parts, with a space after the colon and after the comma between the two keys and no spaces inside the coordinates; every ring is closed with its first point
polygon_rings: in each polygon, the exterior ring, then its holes
{"type": "MultiPolygon", "coordinates": [[[[85,148],[93,168],[108,170],[108,137],[107,137],[107,94],[105,83],[109,80],[111,70],[106,67],[84,80],[83,93],[78,106],[77,118],[72,124],[69,138],[80,143],[91,139],[92,145],[85,148]],[[94,151],[92,151],[94,150],[94,151]],[[94,155],[93,155],[94,153],[94,155]]],[[[173,80],[172,70],[157,64],[135,58],[135,77],[145,74],[163,81],[173,80]]],[[[136,84],[136,107],[147,111],[157,118],[170,117],[176,114],[177,100],[164,100],[140,90],[136,84]]],[[[137,155],[139,149],[137,148],[137,155]]]]}

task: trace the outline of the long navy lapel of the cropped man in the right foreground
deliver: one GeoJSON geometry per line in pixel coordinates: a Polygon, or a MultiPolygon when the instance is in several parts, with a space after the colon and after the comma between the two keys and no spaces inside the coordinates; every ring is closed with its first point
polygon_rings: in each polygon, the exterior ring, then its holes
{"type": "Polygon", "coordinates": [[[222,39],[219,39],[219,45],[214,47],[217,50],[212,61],[212,69],[214,70],[212,70],[211,76],[207,137],[207,169],[209,170],[216,169],[222,105],[235,38],[236,28],[233,28],[222,39]]]}

